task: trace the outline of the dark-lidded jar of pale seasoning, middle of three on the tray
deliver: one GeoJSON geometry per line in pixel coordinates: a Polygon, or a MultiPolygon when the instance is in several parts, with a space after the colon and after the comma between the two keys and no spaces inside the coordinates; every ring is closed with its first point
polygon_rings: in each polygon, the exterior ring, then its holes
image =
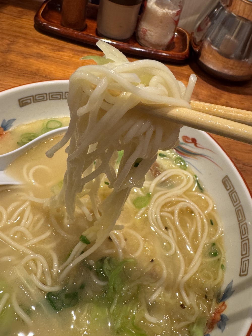
{"type": "Polygon", "coordinates": [[[142,0],[100,0],[97,33],[116,40],[129,39],[135,30],[142,0]]]}

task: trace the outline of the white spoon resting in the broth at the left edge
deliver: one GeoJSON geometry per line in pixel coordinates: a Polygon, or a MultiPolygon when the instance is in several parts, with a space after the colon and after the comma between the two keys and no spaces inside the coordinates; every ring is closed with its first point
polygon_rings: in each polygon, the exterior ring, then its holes
{"type": "Polygon", "coordinates": [[[67,129],[68,129],[68,126],[53,129],[52,131],[46,132],[46,133],[38,136],[34,140],[26,143],[25,145],[23,145],[22,147],[20,147],[18,149],[15,149],[14,151],[11,151],[9,153],[0,155],[0,185],[3,185],[3,184],[22,184],[22,182],[16,181],[13,178],[6,175],[5,169],[8,167],[8,165],[12,161],[14,161],[16,158],[18,158],[19,155],[28,151],[30,148],[33,148],[34,146],[36,146],[37,144],[39,144],[43,140],[46,140],[46,139],[48,139],[50,137],[53,137],[57,134],[63,134],[63,133],[66,132],[67,129]]]}

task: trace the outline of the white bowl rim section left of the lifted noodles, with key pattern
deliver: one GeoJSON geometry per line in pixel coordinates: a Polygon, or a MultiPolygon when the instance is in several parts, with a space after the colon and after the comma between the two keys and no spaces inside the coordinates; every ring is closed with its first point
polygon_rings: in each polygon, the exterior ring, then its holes
{"type": "Polygon", "coordinates": [[[39,119],[69,116],[67,95],[68,80],[32,83],[1,91],[1,127],[7,130],[39,119]]]}

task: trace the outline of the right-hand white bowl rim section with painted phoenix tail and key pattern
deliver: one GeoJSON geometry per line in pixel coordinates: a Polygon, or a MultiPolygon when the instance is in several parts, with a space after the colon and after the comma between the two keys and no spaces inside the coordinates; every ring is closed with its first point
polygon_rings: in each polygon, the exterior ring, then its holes
{"type": "Polygon", "coordinates": [[[213,197],[224,227],[226,269],[221,301],[227,307],[221,314],[222,323],[211,336],[250,335],[247,333],[252,322],[251,194],[237,168],[209,134],[182,127],[180,146],[184,158],[213,197]]]}

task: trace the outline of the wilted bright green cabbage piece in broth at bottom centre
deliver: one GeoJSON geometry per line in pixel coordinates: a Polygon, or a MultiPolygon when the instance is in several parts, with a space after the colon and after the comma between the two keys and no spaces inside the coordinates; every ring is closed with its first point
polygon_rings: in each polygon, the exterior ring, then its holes
{"type": "Polygon", "coordinates": [[[95,301],[92,306],[92,314],[97,316],[97,309],[101,306],[108,312],[116,335],[124,336],[147,336],[136,322],[146,312],[142,306],[139,296],[141,295],[140,285],[131,286],[130,275],[126,266],[134,264],[134,259],[124,259],[119,262],[116,258],[103,257],[95,262],[96,276],[101,281],[107,281],[104,286],[104,294],[95,301]]]}

